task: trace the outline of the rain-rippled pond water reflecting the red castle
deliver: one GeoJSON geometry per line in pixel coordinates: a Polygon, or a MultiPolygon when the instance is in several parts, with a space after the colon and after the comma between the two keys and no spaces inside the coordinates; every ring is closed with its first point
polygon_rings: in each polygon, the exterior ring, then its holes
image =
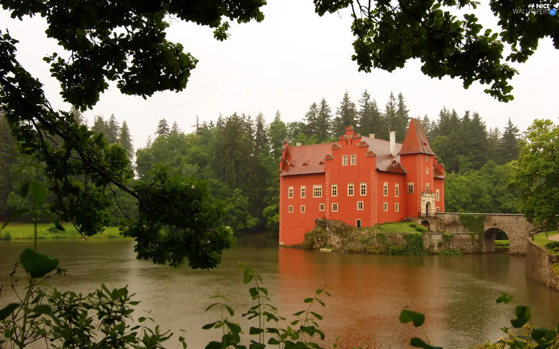
{"type": "MultiPolygon", "coordinates": [[[[0,242],[0,285],[9,285],[13,263],[27,247],[32,247],[31,241],[0,242]]],[[[340,336],[345,343],[409,347],[409,338],[424,335],[411,324],[399,323],[404,307],[424,313],[430,342],[445,348],[498,340],[499,328],[510,327],[517,304],[532,307],[532,322],[538,326],[555,327],[559,322],[559,293],[525,276],[523,256],[338,254],[278,248],[277,241],[268,238],[244,237],[225,252],[218,269],[190,270],[136,260],[129,240],[39,241],[39,251],[58,257],[68,270],[51,283],[59,290],[87,293],[102,283],[110,289],[129,285],[134,299],[141,301],[135,317],[151,310],[162,328],[175,333],[165,346],[170,348],[178,343],[179,329],[187,330],[189,348],[203,348],[220,338],[218,330],[201,329],[219,319],[219,313],[204,311],[216,291],[230,299],[234,319],[248,333],[248,322],[240,314],[252,302],[239,261],[262,275],[272,304],[287,319],[305,309],[304,298],[328,283],[331,297],[323,297],[326,308],[315,309],[324,316],[320,326],[327,346],[340,336]],[[514,295],[516,303],[496,304],[501,292],[514,295]]],[[[9,287],[2,296],[0,308],[11,298],[9,287]]]]}

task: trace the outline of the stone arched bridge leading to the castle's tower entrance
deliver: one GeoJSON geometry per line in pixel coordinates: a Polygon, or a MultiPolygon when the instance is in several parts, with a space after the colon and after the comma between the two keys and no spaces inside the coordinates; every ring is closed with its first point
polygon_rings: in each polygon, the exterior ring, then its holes
{"type": "Polygon", "coordinates": [[[495,251],[495,235],[502,230],[509,237],[509,253],[525,255],[527,250],[530,230],[534,226],[530,224],[522,214],[500,214],[500,213],[435,213],[435,217],[421,218],[421,224],[429,223],[432,231],[448,231],[451,233],[465,233],[466,228],[459,221],[461,214],[484,215],[483,252],[495,251]],[[425,222],[427,221],[427,222],[425,222]]]}

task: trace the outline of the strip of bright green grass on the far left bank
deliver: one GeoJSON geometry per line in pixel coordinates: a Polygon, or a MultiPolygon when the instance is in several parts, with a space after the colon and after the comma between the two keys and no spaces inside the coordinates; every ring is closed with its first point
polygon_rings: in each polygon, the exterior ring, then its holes
{"type": "MultiPolygon", "coordinates": [[[[79,233],[75,230],[72,223],[63,223],[62,225],[66,230],[51,233],[47,231],[50,224],[48,223],[37,224],[37,238],[48,239],[48,238],[81,237],[79,233]]],[[[32,239],[33,237],[34,237],[33,224],[31,223],[11,223],[8,224],[8,226],[4,228],[2,232],[0,232],[1,240],[32,239]]],[[[92,237],[120,237],[119,227],[105,227],[105,231],[103,233],[94,235],[92,237]]]]}

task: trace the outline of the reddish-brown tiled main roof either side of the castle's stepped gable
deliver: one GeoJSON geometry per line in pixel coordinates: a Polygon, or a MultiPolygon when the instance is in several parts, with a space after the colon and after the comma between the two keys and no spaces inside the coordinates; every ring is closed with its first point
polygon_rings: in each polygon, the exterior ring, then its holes
{"type": "MultiPolygon", "coordinates": [[[[372,151],[377,158],[377,169],[380,171],[406,173],[402,166],[397,161],[397,157],[390,154],[390,141],[380,140],[378,138],[362,137],[361,141],[367,142],[368,147],[363,147],[363,152],[372,151]],[[368,148],[368,149],[367,149],[368,148]]],[[[283,168],[281,171],[282,176],[297,175],[297,174],[310,174],[310,173],[324,173],[324,164],[330,160],[324,160],[326,155],[332,155],[331,147],[338,142],[288,146],[283,161],[283,168]],[[302,165],[306,163],[306,165],[302,165]],[[290,166],[295,164],[295,166],[290,166]]],[[[402,144],[396,143],[396,154],[400,151],[402,144]]],[[[336,159],[337,160],[337,159],[336,159]]],[[[333,161],[336,161],[333,160],[333,161]]]]}

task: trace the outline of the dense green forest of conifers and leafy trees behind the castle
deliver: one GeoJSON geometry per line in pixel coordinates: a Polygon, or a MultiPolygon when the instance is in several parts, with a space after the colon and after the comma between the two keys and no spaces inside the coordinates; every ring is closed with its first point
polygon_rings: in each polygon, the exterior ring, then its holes
{"type": "MultiPolygon", "coordinates": [[[[78,122],[82,114],[73,110],[78,122]]],[[[277,111],[267,123],[262,113],[256,117],[233,113],[219,116],[214,121],[200,121],[196,117],[194,131],[185,133],[177,121],[169,125],[160,119],[154,137],[144,147],[134,151],[126,122],[120,126],[114,116],[96,116],[91,129],[103,132],[107,141],[120,143],[135,157],[131,166],[139,179],[153,176],[151,170],[158,163],[173,174],[196,176],[210,183],[214,199],[228,205],[226,224],[240,235],[248,229],[266,228],[270,235],[278,233],[278,158],[283,140],[292,144],[331,142],[343,133],[346,125],[353,125],[362,135],[375,133],[376,138],[389,139],[389,131],[396,131],[396,141],[402,142],[409,125],[409,109],[404,96],[390,93],[385,106],[365,90],[353,102],[348,92],[337,107],[330,107],[323,98],[312,103],[302,121],[284,122],[277,111]],[[335,110],[334,110],[335,109],[335,110]]],[[[520,132],[510,122],[502,128],[487,129],[476,112],[462,114],[443,107],[436,118],[421,117],[433,151],[447,171],[445,205],[447,212],[518,213],[518,193],[506,187],[509,162],[518,158],[520,132]]],[[[183,126],[184,127],[184,126],[183,126]]],[[[17,179],[11,179],[21,166],[21,159],[13,157],[15,142],[7,125],[0,121],[0,209],[10,213],[30,205],[17,195],[21,181],[30,176],[46,181],[40,170],[30,168],[17,179]]],[[[119,201],[125,212],[132,214],[135,202],[127,195],[112,199],[119,201]],[[120,200],[119,200],[120,198],[120,200]]],[[[122,193],[121,193],[122,194],[122,193]]],[[[117,221],[117,213],[113,214],[117,221]]]]}

